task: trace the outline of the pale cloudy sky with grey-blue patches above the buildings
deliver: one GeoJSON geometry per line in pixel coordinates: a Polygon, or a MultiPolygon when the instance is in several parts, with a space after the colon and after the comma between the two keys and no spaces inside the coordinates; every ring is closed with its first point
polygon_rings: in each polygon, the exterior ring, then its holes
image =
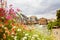
{"type": "Polygon", "coordinates": [[[60,0],[8,0],[7,5],[10,4],[28,17],[56,18],[56,10],[60,9],[60,0]]]}

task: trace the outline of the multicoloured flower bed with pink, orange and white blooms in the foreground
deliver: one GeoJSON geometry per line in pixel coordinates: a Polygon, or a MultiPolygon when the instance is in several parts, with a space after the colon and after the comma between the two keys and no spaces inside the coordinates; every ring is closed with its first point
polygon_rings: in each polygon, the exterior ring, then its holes
{"type": "Polygon", "coordinates": [[[0,8],[0,40],[53,40],[53,36],[45,36],[36,29],[29,29],[16,22],[16,12],[0,8]]]}

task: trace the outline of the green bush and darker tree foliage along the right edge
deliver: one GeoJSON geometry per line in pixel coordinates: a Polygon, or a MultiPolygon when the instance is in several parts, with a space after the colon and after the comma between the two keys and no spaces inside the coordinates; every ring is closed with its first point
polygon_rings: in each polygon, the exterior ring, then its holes
{"type": "Polygon", "coordinates": [[[54,22],[49,22],[48,23],[48,29],[51,30],[54,26],[60,26],[60,10],[57,10],[57,20],[55,20],[54,22]]]}

